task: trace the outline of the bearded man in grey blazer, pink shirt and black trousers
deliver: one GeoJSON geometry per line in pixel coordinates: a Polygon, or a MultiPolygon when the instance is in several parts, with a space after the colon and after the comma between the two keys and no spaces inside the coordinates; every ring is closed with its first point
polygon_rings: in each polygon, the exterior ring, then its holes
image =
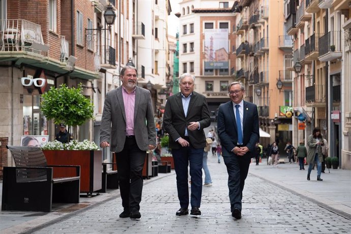
{"type": "Polygon", "coordinates": [[[116,152],[123,212],[121,218],[140,219],[142,167],[146,152],[156,147],[156,127],[149,90],[136,86],[136,69],[121,70],[122,86],[106,94],[100,146],[116,152]]]}

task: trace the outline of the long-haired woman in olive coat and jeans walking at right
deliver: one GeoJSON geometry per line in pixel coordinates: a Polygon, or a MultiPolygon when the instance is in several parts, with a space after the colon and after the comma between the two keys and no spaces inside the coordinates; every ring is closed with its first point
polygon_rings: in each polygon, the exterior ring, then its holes
{"type": "Polygon", "coordinates": [[[307,173],[307,180],[310,180],[310,174],[312,171],[312,167],[314,163],[317,163],[317,181],[323,181],[320,179],[321,173],[321,162],[323,162],[323,154],[321,150],[321,146],[324,145],[323,137],[320,134],[320,129],[314,128],[312,134],[308,136],[307,140],[308,150],[307,150],[307,163],[308,166],[308,173],[307,173]]]}

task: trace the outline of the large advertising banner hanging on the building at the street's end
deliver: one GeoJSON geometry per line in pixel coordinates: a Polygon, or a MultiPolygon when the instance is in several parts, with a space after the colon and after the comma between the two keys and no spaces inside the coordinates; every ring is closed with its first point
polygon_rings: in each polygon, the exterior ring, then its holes
{"type": "Polygon", "coordinates": [[[205,69],[228,69],[228,28],[207,29],[204,36],[205,69]]]}

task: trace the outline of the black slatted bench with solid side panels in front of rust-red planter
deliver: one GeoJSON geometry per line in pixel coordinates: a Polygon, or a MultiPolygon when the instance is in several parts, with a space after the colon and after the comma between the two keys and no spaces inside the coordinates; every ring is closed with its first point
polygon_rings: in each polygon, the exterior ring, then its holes
{"type": "Polygon", "coordinates": [[[79,203],[80,166],[47,165],[40,148],[6,146],[15,167],[4,167],[2,211],[51,212],[52,202],[79,203]],[[72,177],[53,178],[53,169],[72,177]]]}

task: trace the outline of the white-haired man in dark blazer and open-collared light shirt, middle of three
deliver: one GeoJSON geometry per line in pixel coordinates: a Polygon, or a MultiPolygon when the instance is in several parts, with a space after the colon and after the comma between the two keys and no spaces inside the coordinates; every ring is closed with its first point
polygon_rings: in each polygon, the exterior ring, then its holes
{"type": "Polygon", "coordinates": [[[176,215],[189,214],[188,164],[191,176],[191,215],[201,215],[202,158],[206,147],[203,129],[210,126],[210,111],[206,98],[194,91],[193,77],[184,73],[179,78],[181,92],[166,102],[163,126],[170,136],[174,169],[177,174],[178,198],[181,208],[176,215]]]}

